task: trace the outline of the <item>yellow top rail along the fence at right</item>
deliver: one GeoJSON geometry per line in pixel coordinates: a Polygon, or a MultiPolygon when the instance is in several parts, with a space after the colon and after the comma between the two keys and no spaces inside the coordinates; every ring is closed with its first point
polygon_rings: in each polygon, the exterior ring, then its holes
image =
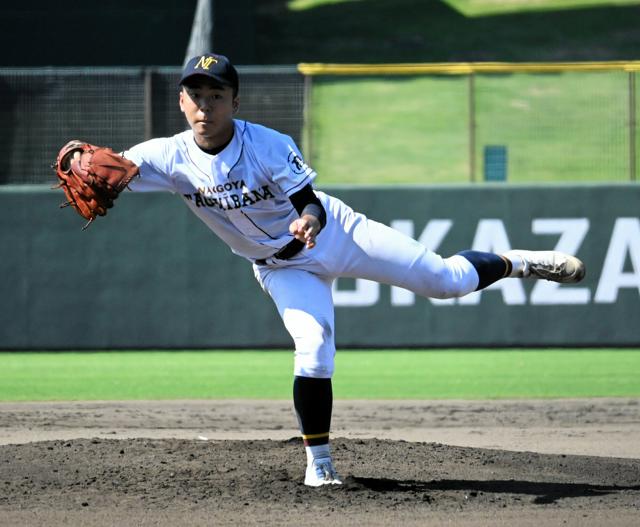
{"type": "Polygon", "coordinates": [[[407,64],[301,63],[303,75],[468,75],[471,73],[554,73],[564,71],[640,71],[640,60],[609,62],[438,62],[407,64]]]}

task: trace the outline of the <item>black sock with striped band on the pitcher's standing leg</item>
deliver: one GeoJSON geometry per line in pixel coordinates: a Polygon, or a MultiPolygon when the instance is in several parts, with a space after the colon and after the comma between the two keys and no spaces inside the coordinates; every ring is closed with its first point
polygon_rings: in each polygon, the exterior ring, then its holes
{"type": "Polygon", "coordinates": [[[298,416],[304,445],[316,446],[328,443],[333,407],[331,379],[295,377],[293,406],[298,416]]]}

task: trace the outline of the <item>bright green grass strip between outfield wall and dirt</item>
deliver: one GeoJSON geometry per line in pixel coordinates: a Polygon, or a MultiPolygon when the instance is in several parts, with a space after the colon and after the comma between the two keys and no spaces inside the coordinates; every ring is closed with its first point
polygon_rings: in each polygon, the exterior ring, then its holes
{"type": "MultiPolygon", "coordinates": [[[[289,399],[288,351],[3,352],[0,400],[289,399]]],[[[338,399],[640,396],[640,349],[340,351],[338,399]]]]}

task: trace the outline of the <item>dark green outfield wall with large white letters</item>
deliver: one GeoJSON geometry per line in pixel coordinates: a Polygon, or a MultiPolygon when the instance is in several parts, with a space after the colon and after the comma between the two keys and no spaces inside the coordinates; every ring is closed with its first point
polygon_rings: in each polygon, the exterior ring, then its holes
{"type": "MultiPolygon", "coordinates": [[[[640,185],[326,190],[443,255],[556,248],[587,265],[580,284],[503,280],[449,301],[340,279],[339,346],[640,345],[640,185]]],[[[0,188],[1,349],[291,347],[249,262],[180,198],[126,193],[84,232],[61,201],[0,188]]]]}

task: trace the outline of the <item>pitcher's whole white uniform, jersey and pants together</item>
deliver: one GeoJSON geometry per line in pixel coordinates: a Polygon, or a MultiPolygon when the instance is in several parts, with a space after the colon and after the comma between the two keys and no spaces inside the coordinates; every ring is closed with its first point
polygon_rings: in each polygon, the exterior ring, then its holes
{"type": "Polygon", "coordinates": [[[294,374],[333,374],[336,277],[365,278],[422,296],[462,296],[478,286],[466,258],[442,258],[417,241],[355,212],[322,192],[327,223],[313,249],[288,260],[274,258],[292,236],[298,213],[289,196],[311,183],[309,168],[291,138],[263,126],[235,121],[231,142],[218,154],[203,152],[193,132],[153,139],[124,152],[140,167],[132,190],[168,190],[238,255],[254,261],[254,273],[271,296],[295,342],[294,374]]]}

